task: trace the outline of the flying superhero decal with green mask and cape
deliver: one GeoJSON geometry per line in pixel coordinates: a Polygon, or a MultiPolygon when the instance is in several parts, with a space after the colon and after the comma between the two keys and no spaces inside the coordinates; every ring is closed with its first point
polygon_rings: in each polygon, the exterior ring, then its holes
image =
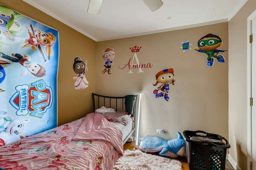
{"type": "Polygon", "coordinates": [[[220,47],[220,45],[222,45],[222,43],[222,39],[219,35],[208,33],[207,35],[204,35],[198,40],[198,47],[194,48],[194,50],[208,55],[207,66],[211,67],[214,65],[214,58],[218,61],[218,63],[225,63],[224,56],[219,55],[219,53],[228,50],[217,49],[218,47],[220,47]]]}

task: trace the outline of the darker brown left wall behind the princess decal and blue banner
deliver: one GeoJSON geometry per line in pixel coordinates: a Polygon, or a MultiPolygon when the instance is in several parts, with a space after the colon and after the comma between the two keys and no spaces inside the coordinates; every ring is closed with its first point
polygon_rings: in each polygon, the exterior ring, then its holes
{"type": "Polygon", "coordinates": [[[59,31],[58,125],[78,119],[91,112],[91,93],[95,91],[93,75],[96,42],[22,0],[0,0],[0,4],[59,31]],[[74,89],[75,81],[72,77],[77,74],[73,70],[73,59],[76,56],[88,61],[89,70],[86,72],[86,78],[89,87],[84,90],[74,89]]]}

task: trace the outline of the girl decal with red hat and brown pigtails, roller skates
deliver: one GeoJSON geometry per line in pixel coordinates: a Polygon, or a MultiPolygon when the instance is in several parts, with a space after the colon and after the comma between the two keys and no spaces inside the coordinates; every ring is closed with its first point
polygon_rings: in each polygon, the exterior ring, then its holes
{"type": "Polygon", "coordinates": [[[156,73],[156,83],[152,84],[153,86],[156,86],[158,83],[162,83],[161,86],[159,86],[157,89],[153,91],[156,98],[164,96],[164,99],[166,101],[169,101],[169,85],[174,85],[174,70],[173,68],[166,68],[164,70],[161,70],[156,73]],[[159,91],[160,90],[160,91],[159,91]]]}

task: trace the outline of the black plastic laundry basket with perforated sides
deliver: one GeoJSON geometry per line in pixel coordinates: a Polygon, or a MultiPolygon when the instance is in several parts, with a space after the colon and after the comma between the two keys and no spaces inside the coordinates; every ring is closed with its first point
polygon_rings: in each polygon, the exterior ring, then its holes
{"type": "Polygon", "coordinates": [[[190,170],[225,170],[228,141],[204,131],[183,131],[190,170]]]}

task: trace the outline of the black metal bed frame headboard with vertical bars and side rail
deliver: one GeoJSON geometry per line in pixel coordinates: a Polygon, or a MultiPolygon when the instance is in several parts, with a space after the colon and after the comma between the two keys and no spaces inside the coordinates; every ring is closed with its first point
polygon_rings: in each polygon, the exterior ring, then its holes
{"type": "MultiPolygon", "coordinates": [[[[103,96],[100,94],[92,93],[92,101],[93,101],[93,112],[102,107],[105,106],[106,108],[112,108],[115,109],[115,111],[121,111],[125,110],[125,100],[127,100],[126,96],[103,96]]],[[[133,110],[132,116],[134,117],[134,122],[132,123],[132,131],[127,135],[127,137],[123,141],[126,143],[126,141],[133,135],[133,140],[135,138],[136,133],[136,125],[137,125],[137,115],[138,115],[138,109],[137,109],[137,100],[138,100],[138,94],[134,95],[134,101],[126,101],[126,102],[133,102],[133,108],[129,108],[130,110],[133,110]]]]}

